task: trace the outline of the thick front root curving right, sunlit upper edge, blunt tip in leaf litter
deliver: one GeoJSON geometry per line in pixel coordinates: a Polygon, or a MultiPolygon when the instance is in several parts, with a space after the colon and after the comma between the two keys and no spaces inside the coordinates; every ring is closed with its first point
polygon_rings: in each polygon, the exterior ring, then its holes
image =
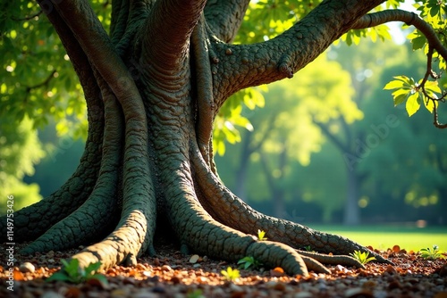
{"type": "MultiPolygon", "coordinates": [[[[176,157],[171,156],[171,160],[175,161],[176,157]]],[[[173,164],[173,169],[185,169],[185,165],[173,164]]],[[[163,184],[169,186],[165,194],[166,211],[181,244],[209,257],[236,262],[253,256],[267,266],[281,266],[291,275],[308,275],[304,262],[291,247],[257,241],[215,221],[198,203],[188,172],[173,169],[162,178],[163,184]]]]}

